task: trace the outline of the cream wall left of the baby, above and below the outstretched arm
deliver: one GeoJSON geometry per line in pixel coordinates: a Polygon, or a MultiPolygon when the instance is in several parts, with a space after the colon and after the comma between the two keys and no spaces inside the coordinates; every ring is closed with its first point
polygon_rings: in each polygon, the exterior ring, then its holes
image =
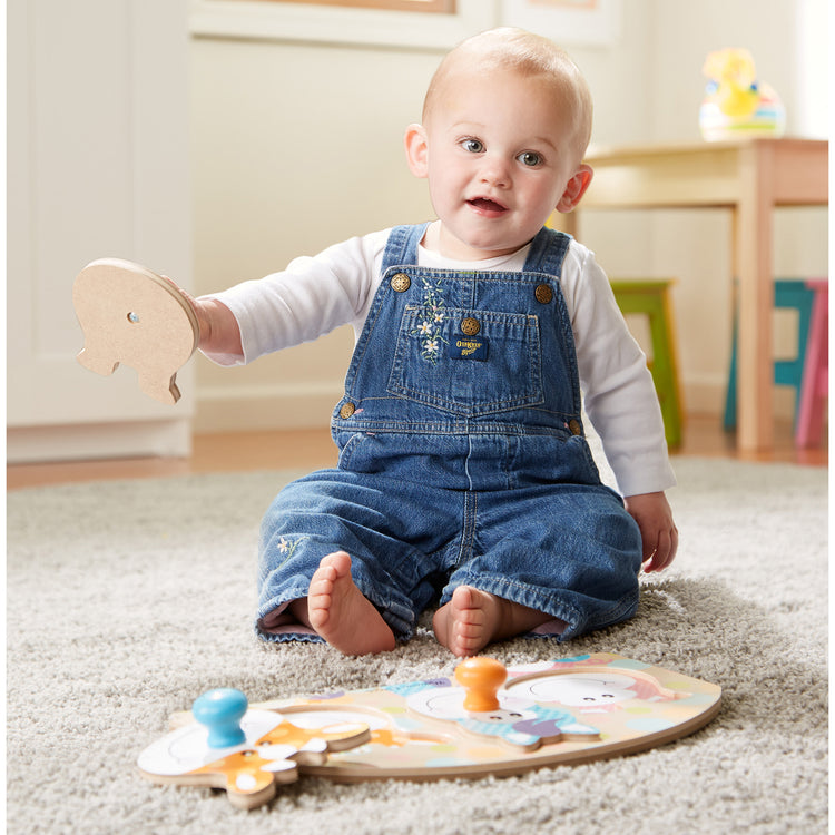
{"type": "MultiPolygon", "coordinates": [[[[191,60],[198,292],[426,216],[402,135],[436,55],[197,40],[191,60]]],[[[346,328],[245,369],[198,357],[197,429],[327,423],[352,346],[346,328]]]]}

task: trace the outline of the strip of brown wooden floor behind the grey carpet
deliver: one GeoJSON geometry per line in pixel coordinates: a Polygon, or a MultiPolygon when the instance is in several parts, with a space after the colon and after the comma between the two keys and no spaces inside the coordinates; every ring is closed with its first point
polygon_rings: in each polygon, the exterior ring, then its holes
{"type": "MultiPolygon", "coordinates": [[[[774,450],[740,453],[734,435],[726,433],[717,418],[690,415],[682,446],[674,455],[730,458],[741,461],[782,461],[827,466],[828,444],[815,450],[797,450],[788,424],[776,428],[774,450]]],[[[336,452],[326,429],[276,432],[237,432],[196,435],[188,459],[130,459],[76,461],[71,463],[10,464],[6,468],[7,489],[107,479],[143,479],[186,473],[235,472],[246,470],[332,466],[336,452]]],[[[674,461],[675,464],[675,461],[674,461]]]]}

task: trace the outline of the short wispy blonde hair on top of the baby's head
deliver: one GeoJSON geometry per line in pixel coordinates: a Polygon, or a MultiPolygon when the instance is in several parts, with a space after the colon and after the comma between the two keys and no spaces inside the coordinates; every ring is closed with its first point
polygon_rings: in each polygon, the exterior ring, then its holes
{"type": "Polygon", "coordinates": [[[426,122],[439,91],[461,69],[510,70],[523,77],[538,77],[549,81],[557,90],[561,104],[568,105],[574,121],[573,141],[582,158],[591,138],[591,92],[577,65],[553,41],[539,35],[503,27],[490,29],[468,38],[448,52],[432,80],[423,100],[423,121],[426,122]]]}

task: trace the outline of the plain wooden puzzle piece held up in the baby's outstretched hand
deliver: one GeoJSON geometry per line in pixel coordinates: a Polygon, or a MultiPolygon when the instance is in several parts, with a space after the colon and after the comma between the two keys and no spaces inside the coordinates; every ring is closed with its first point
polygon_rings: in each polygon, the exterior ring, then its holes
{"type": "Polygon", "coordinates": [[[85,333],[81,365],[108,375],[125,363],[147,395],[179,400],[177,371],[197,348],[199,327],[173,282],[129,261],[101,258],[76,277],[72,303],[85,333]]]}

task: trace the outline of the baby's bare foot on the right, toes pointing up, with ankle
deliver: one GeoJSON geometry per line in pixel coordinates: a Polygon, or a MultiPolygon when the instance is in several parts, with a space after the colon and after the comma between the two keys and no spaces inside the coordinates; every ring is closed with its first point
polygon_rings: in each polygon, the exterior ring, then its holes
{"type": "Polygon", "coordinates": [[[537,609],[471,586],[459,586],[452,600],[435,612],[432,626],[440,644],[453,655],[465,657],[492,641],[521,635],[549,620],[550,615],[537,609]]]}

